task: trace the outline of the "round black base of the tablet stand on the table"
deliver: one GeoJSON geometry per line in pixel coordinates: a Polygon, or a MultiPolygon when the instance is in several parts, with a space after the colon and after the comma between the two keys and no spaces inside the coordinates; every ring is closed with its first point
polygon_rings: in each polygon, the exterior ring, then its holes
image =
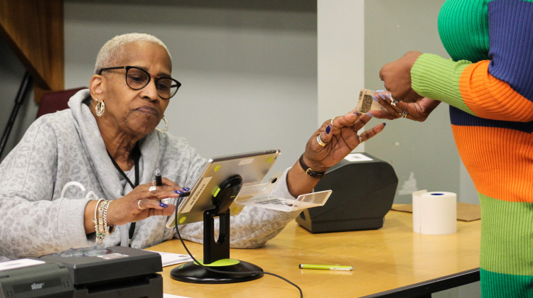
{"type": "Polygon", "coordinates": [[[212,272],[194,262],[189,262],[174,268],[171,271],[171,277],[173,280],[179,280],[180,282],[193,282],[198,284],[230,284],[234,282],[257,280],[263,276],[263,269],[257,265],[247,263],[242,260],[232,261],[234,261],[232,263],[235,264],[222,266],[212,265],[217,263],[215,262],[206,265],[213,270],[224,271],[228,273],[212,272]],[[232,272],[239,272],[239,274],[232,274],[232,272]]]}

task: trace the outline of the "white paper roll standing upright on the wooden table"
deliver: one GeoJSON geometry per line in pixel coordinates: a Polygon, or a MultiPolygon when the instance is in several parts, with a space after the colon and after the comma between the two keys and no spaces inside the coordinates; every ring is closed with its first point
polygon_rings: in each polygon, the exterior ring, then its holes
{"type": "Polygon", "coordinates": [[[413,231],[443,235],[457,231],[457,195],[453,192],[413,192],[413,231]]]}

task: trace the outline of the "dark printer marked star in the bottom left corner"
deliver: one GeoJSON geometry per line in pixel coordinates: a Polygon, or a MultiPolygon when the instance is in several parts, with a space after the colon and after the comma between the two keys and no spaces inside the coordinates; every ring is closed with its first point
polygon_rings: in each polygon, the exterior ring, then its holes
{"type": "Polygon", "coordinates": [[[67,267],[33,258],[0,263],[0,297],[72,297],[67,267]]]}

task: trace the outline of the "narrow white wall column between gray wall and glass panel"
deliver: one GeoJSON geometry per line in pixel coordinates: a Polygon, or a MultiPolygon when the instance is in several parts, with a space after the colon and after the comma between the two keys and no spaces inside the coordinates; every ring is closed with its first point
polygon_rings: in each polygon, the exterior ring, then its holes
{"type": "MultiPolygon", "coordinates": [[[[365,86],[364,4],[363,0],[317,1],[319,125],[354,109],[365,86]]],[[[355,151],[364,148],[362,143],[355,151]]]]}

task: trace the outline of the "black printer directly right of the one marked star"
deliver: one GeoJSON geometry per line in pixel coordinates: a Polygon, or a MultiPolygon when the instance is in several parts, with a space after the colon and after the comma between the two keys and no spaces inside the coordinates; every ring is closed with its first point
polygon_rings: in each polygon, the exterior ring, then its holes
{"type": "Polygon", "coordinates": [[[163,297],[161,255],[126,246],[70,249],[39,260],[68,268],[74,294],[70,297],[163,297]]]}

